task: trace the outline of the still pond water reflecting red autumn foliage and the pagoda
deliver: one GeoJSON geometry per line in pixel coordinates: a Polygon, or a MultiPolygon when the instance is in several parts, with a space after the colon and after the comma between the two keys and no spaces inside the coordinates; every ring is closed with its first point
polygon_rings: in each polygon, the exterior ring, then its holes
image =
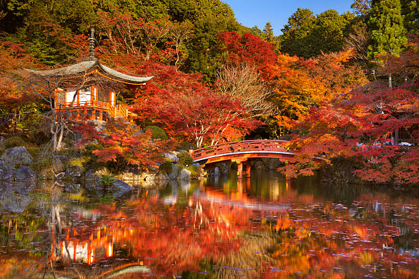
{"type": "Polygon", "coordinates": [[[116,200],[42,183],[2,200],[0,278],[419,278],[415,194],[316,181],[255,171],[116,200]]]}

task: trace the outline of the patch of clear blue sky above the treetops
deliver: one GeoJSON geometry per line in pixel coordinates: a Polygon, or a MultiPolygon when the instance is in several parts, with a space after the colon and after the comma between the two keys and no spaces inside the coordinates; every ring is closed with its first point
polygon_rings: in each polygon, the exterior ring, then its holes
{"type": "Polygon", "coordinates": [[[340,14],[351,11],[353,0],[223,0],[236,14],[239,23],[247,27],[257,25],[263,30],[270,21],[275,35],[281,34],[283,25],[297,8],[307,8],[314,14],[337,10],[340,14]]]}

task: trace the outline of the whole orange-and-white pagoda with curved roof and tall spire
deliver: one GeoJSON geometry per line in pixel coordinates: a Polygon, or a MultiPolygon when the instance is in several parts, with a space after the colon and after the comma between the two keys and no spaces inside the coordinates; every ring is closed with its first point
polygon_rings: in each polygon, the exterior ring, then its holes
{"type": "Polygon", "coordinates": [[[53,92],[56,115],[71,109],[73,120],[131,120],[131,107],[116,101],[116,88],[145,85],[153,77],[136,77],[113,70],[94,57],[94,29],[87,61],[53,70],[29,70],[32,75],[57,81],[53,92]],[[83,86],[80,80],[83,79],[83,86]],[[100,85],[99,85],[100,83],[100,85]],[[106,84],[106,86],[103,86],[106,84]]]}

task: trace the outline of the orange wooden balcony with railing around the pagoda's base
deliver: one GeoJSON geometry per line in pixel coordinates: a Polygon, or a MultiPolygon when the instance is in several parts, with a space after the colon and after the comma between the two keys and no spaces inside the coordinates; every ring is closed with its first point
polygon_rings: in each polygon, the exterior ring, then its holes
{"type": "MultiPolygon", "coordinates": [[[[71,106],[71,102],[58,103],[55,105],[55,111],[65,113],[71,106]]],[[[71,107],[72,120],[109,120],[110,118],[125,118],[131,120],[134,113],[127,105],[112,105],[110,102],[103,101],[75,101],[71,107]]]]}

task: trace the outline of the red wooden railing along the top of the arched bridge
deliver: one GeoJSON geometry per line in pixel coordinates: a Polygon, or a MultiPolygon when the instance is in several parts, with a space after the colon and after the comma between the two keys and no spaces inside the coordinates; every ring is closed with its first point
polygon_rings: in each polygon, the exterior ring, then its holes
{"type": "Polygon", "coordinates": [[[284,144],[288,143],[286,140],[271,140],[271,139],[260,139],[260,140],[244,140],[242,142],[226,142],[225,144],[217,144],[214,146],[207,146],[192,150],[191,156],[194,161],[199,159],[205,159],[216,155],[225,155],[236,152],[275,152],[275,151],[287,151],[283,147],[284,144]]]}

